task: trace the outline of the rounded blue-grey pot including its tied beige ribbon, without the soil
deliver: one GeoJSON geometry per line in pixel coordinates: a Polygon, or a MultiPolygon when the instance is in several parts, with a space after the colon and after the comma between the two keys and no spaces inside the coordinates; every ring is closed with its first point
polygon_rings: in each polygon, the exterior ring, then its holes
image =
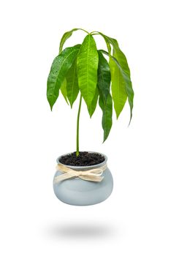
{"type": "MultiPolygon", "coordinates": [[[[88,152],[96,153],[96,152],[88,152]]],[[[53,178],[53,189],[56,197],[63,203],[72,206],[91,206],[101,203],[113,191],[113,176],[107,167],[107,157],[98,165],[72,166],[64,165],[58,157],[58,170],[53,178]],[[94,181],[95,180],[95,181],[94,181]]]]}

